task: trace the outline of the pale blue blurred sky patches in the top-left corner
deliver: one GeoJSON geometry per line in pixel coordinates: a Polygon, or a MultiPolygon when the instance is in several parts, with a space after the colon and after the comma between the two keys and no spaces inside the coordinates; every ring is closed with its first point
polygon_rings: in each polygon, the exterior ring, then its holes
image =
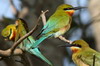
{"type": "MultiPolygon", "coordinates": [[[[16,8],[18,10],[21,9],[20,5],[20,0],[13,0],[16,8]]],[[[8,18],[14,18],[14,15],[12,13],[12,9],[10,8],[10,2],[9,0],[0,0],[0,19],[2,16],[8,17],[8,18]]]]}

